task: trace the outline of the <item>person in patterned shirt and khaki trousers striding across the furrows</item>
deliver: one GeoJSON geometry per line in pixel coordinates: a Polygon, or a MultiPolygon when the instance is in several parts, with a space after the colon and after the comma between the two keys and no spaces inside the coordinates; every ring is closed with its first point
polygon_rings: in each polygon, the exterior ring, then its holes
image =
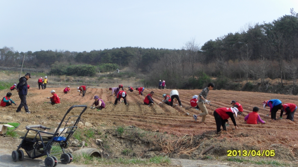
{"type": "Polygon", "coordinates": [[[206,100],[209,90],[212,90],[215,87],[214,83],[209,83],[208,86],[206,88],[204,88],[202,90],[202,92],[199,94],[199,102],[198,102],[198,106],[201,109],[202,113],[198,114],[198,115],[193,115],[193,119],[195,120],[195,122],[197,121],[197,117],[201,116],[202,117],[202,121],[201,123],[205,123],[206,120],[206,116],[208,115],[208,110],[206,108],[205,103],[208,103],[208,100],[206,100]]]}

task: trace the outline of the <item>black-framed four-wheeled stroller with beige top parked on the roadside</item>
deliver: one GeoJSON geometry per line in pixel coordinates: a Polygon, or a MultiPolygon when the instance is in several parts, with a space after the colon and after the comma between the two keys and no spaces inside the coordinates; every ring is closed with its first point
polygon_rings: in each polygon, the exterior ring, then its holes
{"type": "MultiPolygon", "coordinates": [[[[42,156],[47,156],[44,160],[44,164],[46,167],[55,167],[58,164],[58,158],[54,155],[60,156],[60,161],[63,164],[71,163],[73,160],[73,156],[71,153],[66,153],[66,148],[68,145],[68,140],[72,136],[72,134],[77,129],[77,124],[80,121],[81,115],[87,109],[86,105],[73,105],[71,106],[63,119],[61,120],[58,128],[48,128],[42,125],[29,125],[26,126],[26,130],[18,131],[17,133],[21,135],[22,141],[18,146],[18,149],[13,151],[11,157],[14,162],[17,160],[22,161],[24,159],[24,152],[20,148],[24,149],[27,153],[28,157],[31,159],[35,159],[42,156]],[[78,116],[70,116],[67,121],[64,121],[65,117],[69,112],[76,107],[83,107],[83,111],[78,116]],[[72,121],[73,120],[73,121],[72,121]],[[65,123],[64,128],[60,128],[62,123],[65,123]],[[32,128],[41,128],[41,130],[35,130],[32,128]],[[32,133],[34,132],[34,133],[32,133]],[[36,133],[36,134],[35,134],[36,133]],[[52,147],[55,149],[51,150],[52,147]],[[58,148],[58,150],[57,150],[58,148]],[[61,149],[60,149],[61,148],[61,149]],[[62,151],[62,152],[61,152],[62,151]],[[53,153],[54,154],[51,154],[53,153]],[[55,153],[58,152],[58,153],[55,153]]],[[[62,125],[63,127],[63,125],[62,125]]]]}

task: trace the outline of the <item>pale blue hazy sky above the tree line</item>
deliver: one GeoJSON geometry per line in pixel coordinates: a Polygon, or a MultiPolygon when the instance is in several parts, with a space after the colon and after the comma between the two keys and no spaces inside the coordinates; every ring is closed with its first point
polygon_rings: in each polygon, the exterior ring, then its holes
{"type": "Polygon", "coordinates": [[[0,0],[0,48],[92,51],[180,49],[298,12],[298,0],[11,1],[0,0]]]}

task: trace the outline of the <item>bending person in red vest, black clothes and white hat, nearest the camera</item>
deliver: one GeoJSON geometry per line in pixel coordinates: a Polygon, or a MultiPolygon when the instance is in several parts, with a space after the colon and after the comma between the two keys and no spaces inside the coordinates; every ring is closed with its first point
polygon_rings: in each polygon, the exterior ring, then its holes
{"type": "Polygon", "coordinates": [[[234,113],[237,117],[237,113],[238,113],[238,109],[236,107],[234,108],[217,108],[214,112],[213,112],[213,116],[216,122],[216,133],[219,134],[221,133],[221,126],[223,127],[223,130],[226,131],[226,121],[227,119],[231,118],[235,129],[237,129],[237,124],[234,118],[234,113]]]}

